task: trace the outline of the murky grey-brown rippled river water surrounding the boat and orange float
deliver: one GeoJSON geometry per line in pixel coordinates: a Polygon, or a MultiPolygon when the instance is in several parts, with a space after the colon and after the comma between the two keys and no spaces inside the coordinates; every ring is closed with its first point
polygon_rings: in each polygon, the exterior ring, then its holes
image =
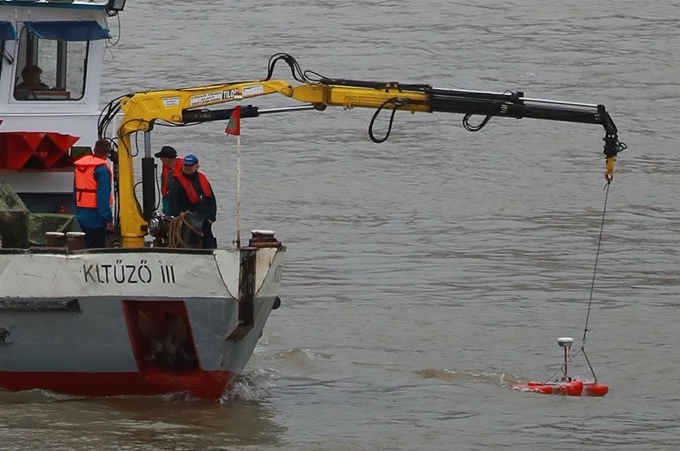
{"type": "MultiPolygon", "coordinates": [[[[603,131],[372,111],[244,120],[244,229],[288,245],[283,306],[220,404],[0,394],[0,449],[671,450],[680,443],[678,2],[128,2],[105,99],[332,77],[604,103],[617,162],[589,319],[600,399],[511,390],[583,335],[604,207],[603,131]],[[279,77],[289,73],[280,70],[279,77]],[[385,123],[383,122],[383,125],[385,123]]],[[[117,26],[112,23],[112,29],[117,26]]],[[[263,98],[258,106],[288,105],[263,98]]],[[[200,156],[234,239],[224,124],[161,130],[200,156]]],[[[577,359],[572,374],[589,376],[577,359]]]]}

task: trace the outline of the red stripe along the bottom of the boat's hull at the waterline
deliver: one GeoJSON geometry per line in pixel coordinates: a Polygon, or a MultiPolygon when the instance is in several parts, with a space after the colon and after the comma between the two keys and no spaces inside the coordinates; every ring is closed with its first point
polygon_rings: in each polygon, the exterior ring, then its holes
{"type": "Polygon", "coordinates": [[[9,391],[49,390],[78,396],[161,395],[189,392],[202,399],[219,399],[234,379],[228,371],[192,373],[139,372],[0,372],[0,387],[9,391]]]}

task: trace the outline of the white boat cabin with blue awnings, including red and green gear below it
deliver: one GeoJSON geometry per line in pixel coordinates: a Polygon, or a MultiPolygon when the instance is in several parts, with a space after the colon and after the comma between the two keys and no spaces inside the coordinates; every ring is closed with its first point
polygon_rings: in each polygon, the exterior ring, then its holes
{"type": "Polygon", "coordinates": [[[0,236],[76,231],[73,162],[97,139],[106,1],[0,1],[0,236]]]}

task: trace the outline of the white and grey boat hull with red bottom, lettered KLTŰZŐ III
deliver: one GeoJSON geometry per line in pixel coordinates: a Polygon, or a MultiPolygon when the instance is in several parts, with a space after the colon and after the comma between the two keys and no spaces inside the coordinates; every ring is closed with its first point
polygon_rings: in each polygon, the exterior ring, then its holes
{"type": "Polygon", "coordinates": [[[282,247],[2,251],[0,387],[218,398],[277,304],[284,258],[282,247]],[[155,352],[177,321],[181,351],[155,352]]]}

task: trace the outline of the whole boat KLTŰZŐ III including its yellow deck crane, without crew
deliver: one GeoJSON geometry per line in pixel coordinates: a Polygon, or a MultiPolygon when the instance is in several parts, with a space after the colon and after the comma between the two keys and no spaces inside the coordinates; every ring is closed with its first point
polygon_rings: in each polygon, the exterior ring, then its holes
{"type": "MultiPolygon", "coordinates": [[[[370,108],[376,112],[369,137],[377,143],[388,138],[399,110],[462,114],[470,131],[492,117],[596,124],[605,131],[608,182],[625,149],[601,104],[327,78],[303,72],[283,53],[272,56],[265,78],[130,93],[100,111],[107,21],[124,7],[123,0],[0,2],[0,388],[6,390],[188,392],[219,399],[280,306],[286,247],[274,231],[254,230],[242,243],[237,210],[236,245],[202,249],[191,245],[190,220],[156,211],[150,145],[156,122],[186,126],[370,108]],[[281,61],[295,85],[272,78],[281,61]],[[22,86],[24,71],[26,77],[42,75],[37,88],[22,86]],[[241,105],[267,95],[297,104],[241,105]],[[224,103],[236,106],[216,108],[224,103]],[[390,127],[376,137],[373,124],[383,110],[391,111],[390,127]],[[475,116],[481,123],[471,124],[475,116]],[[73,215],[73,165],[99,139],[111,145],[115,232],[105,248],[84,249],[73,215]],[[133,149],[137,143],[142,145],[133,149]]],[[[230,130],[240,143],[233,132],[238,127],[230,130]]]]}

